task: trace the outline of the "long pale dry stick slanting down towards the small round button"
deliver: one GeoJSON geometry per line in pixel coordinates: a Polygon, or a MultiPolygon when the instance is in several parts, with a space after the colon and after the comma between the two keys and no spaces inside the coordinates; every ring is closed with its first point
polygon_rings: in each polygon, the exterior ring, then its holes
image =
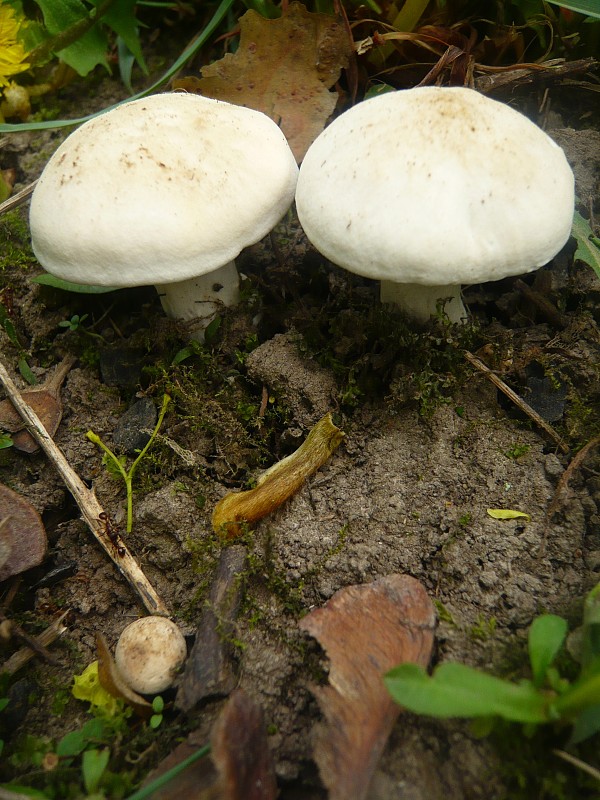
{"type": "Polygon", "coordinates": [[[37,414],[21,397],[19,390],[1,362],[0,382],[4,384],[4,388],[11,402],[27,423],[29,432],[52,461],[65,485],[73,495],[89,529],[113,560],[119,572],[129,581],[132,588],[138,593],[145,608],[151,614],[169,616],[167,607],[140,569],[121,537],[111,532],[110,527],[106,524],[108,517],[98,502],[96,495],[91,489],[87,488],[77,473],[71,468],[60,448],[57,447],[48,431],[40,422],[37,414]]]}

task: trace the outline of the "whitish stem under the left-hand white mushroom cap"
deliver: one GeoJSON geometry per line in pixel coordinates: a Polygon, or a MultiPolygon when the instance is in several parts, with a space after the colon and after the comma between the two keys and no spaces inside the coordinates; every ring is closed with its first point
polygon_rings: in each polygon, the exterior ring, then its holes
{"type": "Polygon", "coordinates": [[[204,341],[204,331],[221,306],[239,302],[239,275],[235,261],[185,281],[157,284],[156,290],[165,314],[171,319],[198,319],[200,327],[194,338],[204,341]]]}

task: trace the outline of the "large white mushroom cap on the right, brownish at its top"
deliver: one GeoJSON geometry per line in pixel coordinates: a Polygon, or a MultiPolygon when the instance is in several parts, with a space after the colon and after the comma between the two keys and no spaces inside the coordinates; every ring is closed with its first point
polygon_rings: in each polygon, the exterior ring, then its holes
{"type": "Polygon", "coordinates": [[[527,117],[465,88],[390,92],[346,111],[300,168],[298,217],[351,272],[478,283],[547,263],[569,238],[574,179],[527,117]]]}

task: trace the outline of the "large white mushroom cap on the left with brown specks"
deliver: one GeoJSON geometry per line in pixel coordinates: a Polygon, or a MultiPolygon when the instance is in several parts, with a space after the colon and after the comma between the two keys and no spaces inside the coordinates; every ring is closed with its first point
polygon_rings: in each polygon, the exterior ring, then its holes
{"type": "Polygon", "coordinates": [[[134,100],[84,123],[50,158],[31,199],[33,251],[76,283],[187,280],[266,236],[297,177],[266,114],[192,94],[134,100]]]}

